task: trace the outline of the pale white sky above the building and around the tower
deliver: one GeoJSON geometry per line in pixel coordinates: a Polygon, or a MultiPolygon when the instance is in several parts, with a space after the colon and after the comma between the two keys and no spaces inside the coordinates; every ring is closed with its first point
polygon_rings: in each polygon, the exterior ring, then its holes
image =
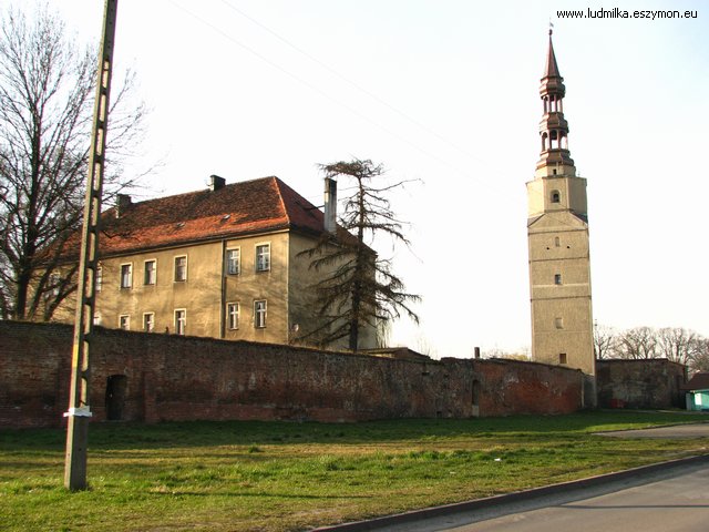
{"type": "MultiPolygon", "coordinates": [[[[103,1],[51,4],[99,39],[103,1]]],[[[411,248],[373,244],[422,296],[391,344],[527,352],[549,22],[587,178],[594,318],[709,336],[707,1],[120,0],[115,69],[152,109],[127,171],[162,162],[136,200],[277,175],[322,205],[318,164],[371,158],[410,181],[391,201],[411,248]],[[696,18],[558,14],[602,8],[696,18]]]]}

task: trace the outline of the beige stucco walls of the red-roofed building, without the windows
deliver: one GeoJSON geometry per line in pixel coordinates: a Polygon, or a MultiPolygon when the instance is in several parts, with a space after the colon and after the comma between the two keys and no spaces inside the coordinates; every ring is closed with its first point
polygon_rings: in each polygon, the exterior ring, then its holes
{"type": "MultiPolygon", "coordinates": [[[[312,345],[298,339],[311,330],[315,316],[312,284],[319,275],[309,269],[310,259],[299,254],[312,247],[315,236],[295,232],[276,232],[243,238],[194,244],[169,249],[135,253],[101,260],[102,282],[96,293],[97,324],[119,328],[121,316],[129,316],[130,330],[143,330],[143,316],[154,314],[155,332],[175,332],[175,310],[186,311],[185,335],[253,340],[274,344],[312,345]],[[256,270],[256,246],[270,246],[270,269],[256,270]],[[227,249],[239,249],[240,268],[236,275],[226,272],[227,249]],[[187,257],[187,279],[175,282],[175,257],[187,257]],[[145,262],[155,260],[154,285],[144,283],[145,262]],[[121,288],[121,266],[132,265],[130,288],[121,288]],[[266,327],[255,327],[256,300],[267,301],[266,327]],[[238,328],[228,324],[227,305],[239,305],[238,328]],[[297,330],[296,330],[296,327],[297,330]]],[[[71,323],[74,298],[69,298],[54,319],[71,323]]],[[[346,349],[348,339],[328,346],[346,349]]],[[[376,331],[364,327],[360,347],[376,347],[376,331]]]]}

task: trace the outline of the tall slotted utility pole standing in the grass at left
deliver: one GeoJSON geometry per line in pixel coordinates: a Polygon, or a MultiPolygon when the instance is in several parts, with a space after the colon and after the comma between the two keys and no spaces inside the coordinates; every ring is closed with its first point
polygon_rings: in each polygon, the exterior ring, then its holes
{"type": "Polygon", "coordinates": [[[96,72],[96,101],[93,113],[89,171],[86,173],[69,411],[64,413],[69,418],[64,487],[71,491],[86,489],[86,446],[89,442],[89,418],[91,418],[91,408],[89,406],[91,366],[89,356],[93,341],[93,315],[96,270],[99,267],[99,223],[101,221],[104,152],[106,147],[106,127],[109,125],[109,93],[113,70],[113,41],[117,3],[117,0],[106,0],[103,12],[103,33],[96,72]]]}

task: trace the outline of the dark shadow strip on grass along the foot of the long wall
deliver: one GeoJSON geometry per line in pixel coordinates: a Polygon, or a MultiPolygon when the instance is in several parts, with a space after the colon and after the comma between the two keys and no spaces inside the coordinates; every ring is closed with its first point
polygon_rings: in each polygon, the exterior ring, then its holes
{"type": "MultiPolygon", "coordinates": [[[[378,444],[433,442],[436,438],[580,437],[598,430],[644,428],[702,421],[680,412],[587,411],[567,416],[514,416],[475,419],[399,419],[359,423],[294,421],[192,421],[103,423],[90,426],[93,450],[169,449],[203,446],[278,446],[297,443],[378,444]]],[[[56,450],[64,429],[0,431],[0,451],[56,450]]],[[[239,453],[239,449],[235,449],[239,453]]]]}

